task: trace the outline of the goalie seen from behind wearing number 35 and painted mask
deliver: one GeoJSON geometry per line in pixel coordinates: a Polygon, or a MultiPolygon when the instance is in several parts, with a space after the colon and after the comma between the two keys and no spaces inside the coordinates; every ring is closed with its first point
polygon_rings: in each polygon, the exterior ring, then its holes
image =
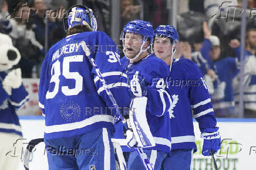
{"type": "Polygon", "coordinates": [[[39,84],[49,169],[115,169],[110,137],[116,112],[96,72],[119,107],[130,104],[127,76],[113,40],[96,32],[92,9],[72,6],[64,25],[67,36],[49,49],[39,84]]]}

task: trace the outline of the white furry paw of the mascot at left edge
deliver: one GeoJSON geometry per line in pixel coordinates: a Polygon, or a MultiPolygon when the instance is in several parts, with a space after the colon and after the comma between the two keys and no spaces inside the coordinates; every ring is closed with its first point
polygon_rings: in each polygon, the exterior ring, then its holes
{"type": "Polygon", "coordinates": [[[2,82],[6,93],[11,96],[12,89],[18,89],[22,84],[21,69],[14,69],[5,76],[2,82]]]}

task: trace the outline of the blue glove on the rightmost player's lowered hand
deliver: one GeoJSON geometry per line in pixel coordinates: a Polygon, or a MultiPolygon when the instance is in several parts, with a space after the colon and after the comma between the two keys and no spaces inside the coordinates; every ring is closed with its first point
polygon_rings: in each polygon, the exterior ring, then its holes
{"type": "Polygon", "coordinates": [[[211,156],[220,149],[221,138],[218,127],[207,128],[201,133],[201,138],[204,138],[202,154],[204,156],[211,156]]]}

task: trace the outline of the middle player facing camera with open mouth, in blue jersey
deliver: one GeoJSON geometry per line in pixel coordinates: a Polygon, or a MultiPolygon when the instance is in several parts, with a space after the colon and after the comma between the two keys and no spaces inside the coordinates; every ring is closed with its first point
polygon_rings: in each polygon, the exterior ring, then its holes
{"type": "MultiPolygon", "coordinates": [[[[171,147],[168,113],[170,96],[168,97],[164,90],[163,83],[163,79],[168,77],[170,72],[166,63],[155,55],[147,53],[152,42],[153,28],[151,23],[140,20],[127,23],[123,29],[125,57],[121,59],[121,63],[129,77],[133,96],[147,97],[146,118],[156,146],[143,150],[150,159],[153,168],[160,169],[161,162],[166,158],[171,147]],[[136,81],[136,77],[138,81],[136,81]],[[137,87],[136,84],[142,84],[142,86],[137,87]]],[[[127,138],[130,138],[128,133],[127,138]]],[[[133,147],[134,144],[128,142],[129,147],[133,147]]],[[[136,151],[130,152],[127,168],[144,169],[136,151]]]]}

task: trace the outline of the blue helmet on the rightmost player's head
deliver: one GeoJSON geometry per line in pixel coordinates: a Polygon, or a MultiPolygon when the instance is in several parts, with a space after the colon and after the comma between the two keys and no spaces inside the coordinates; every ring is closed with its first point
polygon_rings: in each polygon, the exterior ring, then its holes
{"type": "Polygon", "coordinates": [[[178,32],[172,25],[157,26],[154,30],[154,37],[156,36],[170,38],[173,44],[178,42],[178,32]]]}

